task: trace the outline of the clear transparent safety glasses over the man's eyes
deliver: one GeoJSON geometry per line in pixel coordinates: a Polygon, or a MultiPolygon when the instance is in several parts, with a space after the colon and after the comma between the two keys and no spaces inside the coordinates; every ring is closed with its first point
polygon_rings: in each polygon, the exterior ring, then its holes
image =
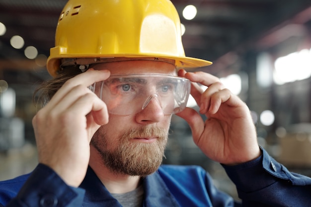
{"type": "Polygon", "coordinates": [[[132,115],[150,107],[160,107],[163,114],[185,109],[190,94],[190,80],[162,73],[113,74],[89,86],[103,100],[110,114],[132,115]],[[156,105],[154,105],[156,104],[156,105]]]}

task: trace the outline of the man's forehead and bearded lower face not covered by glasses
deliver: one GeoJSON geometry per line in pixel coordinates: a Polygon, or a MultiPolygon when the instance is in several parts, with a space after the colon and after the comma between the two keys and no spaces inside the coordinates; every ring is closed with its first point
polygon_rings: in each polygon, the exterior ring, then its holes
{"type": "MultiPolygon", "coordinates": [[[[176,74],[173,65],[156,61],[113,62],[93,68],[108,69],[111,74],[176,74]]],[[[129,103],[124,107],[137,106],[129,103]]],[[[144,110],[136,114],[109,114],[109,123],[94,134],[91,145],[112,172],[147,176],[155,172],[162,162],[170,119],[171,115],[164,114],[156,99],[152,99],[144,110]]]]}

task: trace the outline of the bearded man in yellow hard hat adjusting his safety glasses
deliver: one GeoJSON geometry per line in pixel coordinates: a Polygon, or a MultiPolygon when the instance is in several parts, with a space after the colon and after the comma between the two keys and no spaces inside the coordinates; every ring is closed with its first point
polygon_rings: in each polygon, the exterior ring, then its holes
{"type": "Polygon", "coordinates": [[[242,206],[310,204],[311,179],[258,146],[247,106],[218,78],[184,70],[211,63],[185,57],[179,24],[168,0],[67,3],[33,118],[40,164],[0,183],[2,206],[240,206],[202,168],[160,166],[172,114],[222,163],[242,206]],[[190,92],[200,113],[185,107],[190,92]]]}

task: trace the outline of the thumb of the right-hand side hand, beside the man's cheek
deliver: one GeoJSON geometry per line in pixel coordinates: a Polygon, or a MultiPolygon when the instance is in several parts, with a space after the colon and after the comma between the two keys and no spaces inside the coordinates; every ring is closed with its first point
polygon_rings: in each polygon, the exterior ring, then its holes
{"type": "Polygon", "coordinates": [[[199,138],[204,131],[204,121],[200,114],[192,108],[186,107],[185,110],[176,114],[184,119],[190,126],[192,137],[199,138]]]}

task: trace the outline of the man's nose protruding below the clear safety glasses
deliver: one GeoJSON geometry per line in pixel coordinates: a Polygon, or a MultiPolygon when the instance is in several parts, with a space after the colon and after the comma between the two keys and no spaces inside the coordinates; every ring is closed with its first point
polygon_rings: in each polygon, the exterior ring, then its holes
{"type": "Polygon", "coordinates": [[[136,121],[143,124],[160,122],[163,118],[164,113],[156,94],[148,97],[142,111],[136,114],[136,121]]]}

